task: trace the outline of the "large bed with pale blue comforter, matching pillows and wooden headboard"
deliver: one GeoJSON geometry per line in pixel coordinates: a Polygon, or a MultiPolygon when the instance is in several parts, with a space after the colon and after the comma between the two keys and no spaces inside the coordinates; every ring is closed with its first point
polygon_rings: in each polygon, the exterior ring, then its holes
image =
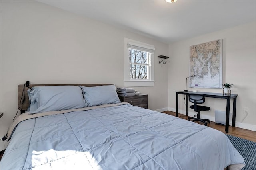
{"type": "MultiPolygon", "coordinates": [[[[114,84],[81,86],[82,96],[76,88],[79,100],[75,100],[80,108],[68,109],[60,107],[66,108],[70,101],[67,104],[64,100],[76,92],[71,89],[63,96],[56,90],[64,88],[66,93],[66,86],[51,87],[47,95],[58,100],[50,101],[49,106],[44,103],[43,107],[40,98],[45,102],[50,97],[42,96],[46,91],[40,88],[35,108],[32,105],[36,93],[26,96],[19,90],[19,101],[21,94],[30,99],[22,106],[29,111],[17,117],[9,128],[10,143],[1,169],[223,170],[245,165],[220,131],[120,102],[114,84]],[[55,110],[49,111],[50,107],[55,110]]],[[[34,88],[28,91],[36,91],[34,88]]]]}

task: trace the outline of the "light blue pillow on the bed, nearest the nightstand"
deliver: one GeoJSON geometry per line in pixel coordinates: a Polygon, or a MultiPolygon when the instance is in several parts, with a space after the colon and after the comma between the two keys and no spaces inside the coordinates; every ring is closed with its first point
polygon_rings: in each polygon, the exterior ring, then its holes
{"type": "Polygon", "coordinates": [[[85,107],[121,102],[116,93],[116,86],[114,84],[107,86],[81,87],[84,91],[85,107]]]}

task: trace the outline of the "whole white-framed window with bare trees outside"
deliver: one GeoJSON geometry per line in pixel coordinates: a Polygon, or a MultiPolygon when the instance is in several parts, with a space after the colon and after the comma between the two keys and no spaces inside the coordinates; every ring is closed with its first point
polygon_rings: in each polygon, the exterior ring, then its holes
{"type": "Polygon", "coordinates": [[[154,86],[154,46],[125,39],[124,85],[154,86]]]}

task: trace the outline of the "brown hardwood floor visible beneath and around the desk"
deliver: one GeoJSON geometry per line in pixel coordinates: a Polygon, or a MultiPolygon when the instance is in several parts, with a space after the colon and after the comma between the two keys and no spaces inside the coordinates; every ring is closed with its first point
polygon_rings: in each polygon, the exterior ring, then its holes
{"type": "MultiPolygon", "coordinates": [[[[168,115],[176,116],[176,113],[172,112],[172,111],[164,111],[163,113],[166,113],[168,115]]],[[[182,119],[188,120],[188,116],[186,116],[186,115],[182,115],[182,114],[179,113],[178,116],[182,119]]],[[[196,123],[198,123],[198,122],[196,122],[196,123]]],[[[199,124],[203,125],[203,123],[199,123],[199,124]]],[[[208,123],[207,126],[212,127],[214,129],[217,129],[219,131],[222,131],[223,133],[228,134],[228,135],[232,135],[232,136],[240,137],[240,138],[243,138],[243,139],[247,139],[249,141],[256,142],[256,132],[255,131],[250,131],[250,130],[242,129],[242,128],[239,128],[239,127],[229,126],[228,133],[226,133],[225,132],[225,126],[218,125],[218,124],[216,124],[215,122],[212,122],[212,121],[210,122],[210,124],[208,123]]]]}

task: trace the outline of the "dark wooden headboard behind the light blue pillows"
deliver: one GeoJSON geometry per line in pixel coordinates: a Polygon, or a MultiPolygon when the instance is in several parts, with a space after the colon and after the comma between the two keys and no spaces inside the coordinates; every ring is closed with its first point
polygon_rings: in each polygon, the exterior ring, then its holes
{"type": "MultiPolygon", "coordinates": [[[[34,86],[86,86],[86,87],[93,87],[93,86],[103,86],[103,85],[112,85],[112,84],[30,84],[30,88],[34,86]]],[[[30,105],[29,103],[29,98],[28,98],[28,92],[27,90],[29,89],[28,87],[25,86],[25,101],[22,105],[22,100],[24,99],[24,96],[22,97],[22,92],[23,92],[24,84],[18,85],[18,108],[21,111],[21,113],[24,113],[30,105]],[[21,102],[20,102],[21,99],[21,102]],[[20,107],[22,105],[22,109],[20,107]]]]}

